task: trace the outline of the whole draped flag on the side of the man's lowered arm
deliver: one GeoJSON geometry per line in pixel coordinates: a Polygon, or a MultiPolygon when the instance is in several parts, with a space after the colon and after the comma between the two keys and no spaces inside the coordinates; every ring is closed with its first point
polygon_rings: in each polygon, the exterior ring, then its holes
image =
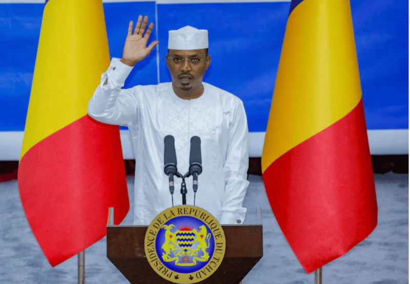
{"type": "Polygon", "coordinates": [[[262,172],[276,220],[307,273],[376,227],[348,0],[292,1],[262,172]]]}

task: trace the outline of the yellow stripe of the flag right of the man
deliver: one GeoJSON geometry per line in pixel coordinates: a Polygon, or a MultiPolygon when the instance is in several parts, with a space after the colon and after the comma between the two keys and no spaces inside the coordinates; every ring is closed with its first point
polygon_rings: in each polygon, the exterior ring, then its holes
{"type": "Polygon", "coordinates": [[[269,147],[262,152],[262,172],[359,103],[351,18],[348,1],[304,0],[291,12],[264,141],[269,147]]]}

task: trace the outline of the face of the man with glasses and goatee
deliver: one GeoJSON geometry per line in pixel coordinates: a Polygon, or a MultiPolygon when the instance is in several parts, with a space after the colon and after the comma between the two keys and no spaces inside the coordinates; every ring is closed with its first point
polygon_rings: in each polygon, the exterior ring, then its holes
{"type": "Polygon", "coordinates": [[[201,86],[203,75],[210,63],[211,56],[207,56],[206,49],[170,49],[167,55],[167,67],[171,73],[172,84],[183,91],[201,86]]]}

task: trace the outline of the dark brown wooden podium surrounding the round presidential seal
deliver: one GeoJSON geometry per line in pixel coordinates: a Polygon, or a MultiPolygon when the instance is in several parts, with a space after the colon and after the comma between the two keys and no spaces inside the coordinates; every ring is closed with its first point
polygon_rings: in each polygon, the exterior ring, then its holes
{"type": "MultiPolygon", "coordinates": [[[[132,283],[171,283],[149,265],[144,251],[147,226],[107,226],[107,257],[132,283]]],[[[222,226],[226,252],[218,270],[203,284],[238,284],[263,255],[262,225],[222,226]]]]}

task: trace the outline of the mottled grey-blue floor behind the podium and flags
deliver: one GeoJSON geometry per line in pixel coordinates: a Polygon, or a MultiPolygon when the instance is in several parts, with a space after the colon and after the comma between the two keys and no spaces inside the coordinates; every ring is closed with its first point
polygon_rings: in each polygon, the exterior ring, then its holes
{"type": "MultiPolygon", "coordinates": [[[[121,225],[133,223],[134,177],[127,177],[131,210],[121,225]]],[[[244,201],[245,223],[262,209],[263,257],[243,284],[313,284],[286,242],[270,209],[262,178],[251,182],[244,201]]],[[[375,174],[378,225],[350,252],[323,267],[323,284],[408,283],[408,174],[375,174]]],[[[0,183],[0,283],[77,283],[77,256],[52,268],[39,248],[20,202],[17,181],[0,183]]],[[[39,216],[41,217],[41,216],[39,216]]],[[[86,249],[86,283],[129,283],[107,258],[106,238],[86,249]]]]}

